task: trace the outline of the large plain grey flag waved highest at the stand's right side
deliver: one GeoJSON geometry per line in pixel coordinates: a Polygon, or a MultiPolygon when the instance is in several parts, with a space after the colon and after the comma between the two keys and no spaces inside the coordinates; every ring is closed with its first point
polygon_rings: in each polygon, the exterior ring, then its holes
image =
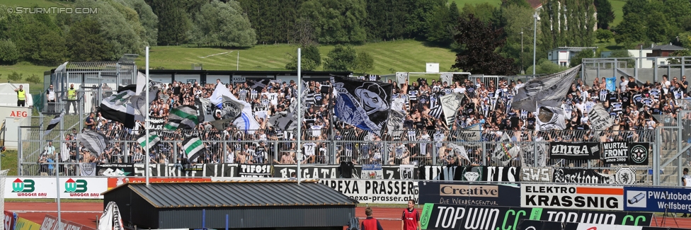
{"type": "Polygon", "coordinates": [[[566,71],[527,81],[513,97],[511,107],[537,112],[537,102],[554,108],[561,106],[561,101],[569,93],[571,83],[580,69],[579,64],[566,71]]]}

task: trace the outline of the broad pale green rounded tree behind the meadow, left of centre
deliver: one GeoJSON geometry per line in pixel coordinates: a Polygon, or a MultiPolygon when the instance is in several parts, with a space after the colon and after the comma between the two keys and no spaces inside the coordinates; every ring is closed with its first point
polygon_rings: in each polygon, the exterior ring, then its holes
{"type": "Polygon", "coordinates": [[[195,17],[193,42],[220,47],[251,47],[256,33],[237,1],[211,1],[195,17]]]}

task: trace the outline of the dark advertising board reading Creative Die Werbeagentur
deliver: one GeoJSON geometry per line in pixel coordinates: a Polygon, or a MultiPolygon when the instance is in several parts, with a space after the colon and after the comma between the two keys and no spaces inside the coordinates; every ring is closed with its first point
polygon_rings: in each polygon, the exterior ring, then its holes
{"type": "Polygon", "coordinates": [[[420,203],[520,206],[518,185],[457,181],[420,182],[420,203]]]}

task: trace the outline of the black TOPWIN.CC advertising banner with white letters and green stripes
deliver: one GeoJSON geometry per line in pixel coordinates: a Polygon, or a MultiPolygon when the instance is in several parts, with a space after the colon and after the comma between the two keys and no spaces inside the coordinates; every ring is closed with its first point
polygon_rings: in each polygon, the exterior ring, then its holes
{"type": "MultiPolygon", "coordinates": [[[[422,229],[515,229],[523,219],[588,224],[650,226],[652,213],[559,210],[530,207],[425,204],[422,229]]],[[[541,230],[541,229],[536,229],[541,230]]]]}

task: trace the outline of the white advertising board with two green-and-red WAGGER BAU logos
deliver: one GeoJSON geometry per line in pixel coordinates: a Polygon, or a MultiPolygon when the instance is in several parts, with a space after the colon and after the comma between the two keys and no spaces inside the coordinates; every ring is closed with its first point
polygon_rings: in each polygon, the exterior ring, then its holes
{"type": "MultiPolygon", "coordinates": [[[[8,178],[6,198],[57,198],[55,178],[8,178]]],[[[60,198],[103,199],[108,178],[60,178],[60,198]]]]}

